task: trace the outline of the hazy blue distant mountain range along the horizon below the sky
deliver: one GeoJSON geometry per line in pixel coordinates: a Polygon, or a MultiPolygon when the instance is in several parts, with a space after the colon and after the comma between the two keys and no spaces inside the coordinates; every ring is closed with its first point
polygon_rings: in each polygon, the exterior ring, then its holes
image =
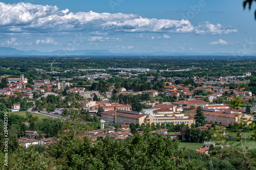
{"type": "MultiPolygon", "coordinates": [[[[22,51],[11,47],[0,47],[0,56],[238,56],[232,53],[170,53],[170,52],[152,52],[152,53],[112,53],[108,50],[58,50],[53,52],[38,52],[36,50],[22,51]]],[[[256,53],[247,56],[256,56],[256,53]]]]}

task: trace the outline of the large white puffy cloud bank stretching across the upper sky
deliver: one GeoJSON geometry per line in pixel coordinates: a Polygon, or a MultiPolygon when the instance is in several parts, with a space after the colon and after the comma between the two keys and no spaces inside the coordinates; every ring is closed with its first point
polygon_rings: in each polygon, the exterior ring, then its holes
{"type": "MultiPolygon", "coordinates": [[[[56,6],[0,3],[0,29],[5,33],[162,32],[220,35],[238,32],[208,21],[193,26],[188,20],[145,18],[136,14],[59,11],[56,6]]],[[[167,37],[166,37],[167,38],[167,37]]]]}

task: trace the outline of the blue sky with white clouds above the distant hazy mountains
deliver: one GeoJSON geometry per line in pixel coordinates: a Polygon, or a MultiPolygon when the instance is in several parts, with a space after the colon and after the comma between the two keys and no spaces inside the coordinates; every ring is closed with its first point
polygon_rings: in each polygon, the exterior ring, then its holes
{"type": "Polygon", "coordinates": [[[243,0],[0,0],[0,47],[51,52],[256,53],[243,0]]]}

